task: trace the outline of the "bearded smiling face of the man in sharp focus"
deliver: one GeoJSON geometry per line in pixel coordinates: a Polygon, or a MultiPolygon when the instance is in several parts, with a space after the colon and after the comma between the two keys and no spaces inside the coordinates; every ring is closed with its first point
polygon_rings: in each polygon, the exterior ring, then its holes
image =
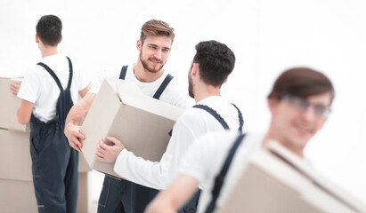
{"type": "Polygon", "coordinates": [[[142,67],[150,73],[158,73],[167,62],[172,40],[168,36],[147,36],[145,41],[137,42],[142,67]]]}

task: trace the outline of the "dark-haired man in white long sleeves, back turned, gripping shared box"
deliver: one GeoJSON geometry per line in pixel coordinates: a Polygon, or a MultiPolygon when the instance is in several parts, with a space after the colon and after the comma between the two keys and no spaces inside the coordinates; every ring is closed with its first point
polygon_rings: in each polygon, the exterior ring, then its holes
{"type": "MultiPolygon", "coordinates": [[[[174,179],[183,154],[195,138],[207,132],[242,130],[240,110],[220,93],[222,84],[234,68],[234,53],[224,43],[216,41],[198,43],[196,51],[188,79],[189,94],[197,105],[186,110],[175,122],[172,137],[160,162],[145,161],[135,156],[126,150],[118,138],[113,137],[107,137],[112,146],[100,140],[96,151],[99,161],[115,163],[114,170],[118,175],[136,184],[165,189],[174,179]]],[[[198,199],[199,191],[180,212],[195,212],[198,199]]]]}

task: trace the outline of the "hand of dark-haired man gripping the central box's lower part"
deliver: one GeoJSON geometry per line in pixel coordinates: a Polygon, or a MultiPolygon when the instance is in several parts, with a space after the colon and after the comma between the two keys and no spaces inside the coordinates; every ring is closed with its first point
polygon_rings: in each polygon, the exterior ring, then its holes
{"type": "Polygon", "coordinates": [[[96,159],[101,162],[116,162],[118,154],[125,149],[125,146],[118,140],[118,138],[107,136],[107,140],[113,145],[107,145],[101,139],[96,148],[96,159]]]}

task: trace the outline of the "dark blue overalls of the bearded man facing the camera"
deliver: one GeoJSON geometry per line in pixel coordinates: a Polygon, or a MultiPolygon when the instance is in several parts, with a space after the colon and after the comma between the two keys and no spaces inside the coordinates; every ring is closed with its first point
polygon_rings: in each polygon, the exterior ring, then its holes
{"type": "MultiPolygon", "coordinates": [[[[119,79],[125,79],[127,66],[122,67],[119,79]]],[[[167,84],[173,79],[167,75],[155,92],[153,98],[159,99],[167,84]]],[[[126,212],[142,213],[146,206],[159,193],[159,190],[135,184],[126,179],[106,175],[98,202],[98,213],[126,212]]]]}

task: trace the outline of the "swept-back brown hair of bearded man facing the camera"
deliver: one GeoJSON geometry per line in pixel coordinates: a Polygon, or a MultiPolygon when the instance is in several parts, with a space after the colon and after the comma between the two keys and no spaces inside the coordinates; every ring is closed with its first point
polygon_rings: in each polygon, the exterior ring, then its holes
{"type": "Polygon", "coordinates": [[[174,28],[170,28],[167,22],[162,20],[148,20],[141,28],[140,41],[143,43],[147,36],[169,36],[172,43],[175,39],[174,28]]]}

